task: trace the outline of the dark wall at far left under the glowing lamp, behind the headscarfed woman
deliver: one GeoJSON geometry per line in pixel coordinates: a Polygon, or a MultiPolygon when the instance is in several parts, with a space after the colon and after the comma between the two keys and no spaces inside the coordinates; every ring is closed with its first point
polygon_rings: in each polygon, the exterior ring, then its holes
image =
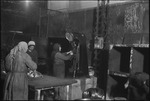
{"type": "Polygon", "coordinates": [[[1,48],[10,51],[19,41],[30,41],[32,36],[39,34],[40,9],[46,7],[46,2],[1,1],[1,48]],[[10,31],[22,31],[12,33],[10,31]]]}

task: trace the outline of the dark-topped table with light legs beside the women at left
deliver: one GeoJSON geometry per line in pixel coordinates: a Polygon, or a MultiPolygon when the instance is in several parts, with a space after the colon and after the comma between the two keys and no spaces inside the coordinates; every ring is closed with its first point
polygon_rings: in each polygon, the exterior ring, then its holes
{"type": "Polygon", "coordinates": [[[47,75],[43,75],[43,77],[39,78],[29,78],[29,86],[34,88],[35,91],[37,91],[37,94],[35,95],[35,100],[43,100],[43,96],[41,96],[41,91],[52,89],[53,87],[66,85],[68,91],[67,93],[69,93],[69,85],[76,82],[77,81],[75,79],[61,79],[47,75]]]}

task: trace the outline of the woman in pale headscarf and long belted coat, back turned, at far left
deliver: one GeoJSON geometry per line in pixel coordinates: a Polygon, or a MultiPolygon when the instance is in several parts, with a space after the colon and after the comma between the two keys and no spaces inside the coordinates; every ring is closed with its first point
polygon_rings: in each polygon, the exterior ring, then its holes
{"type": "Polygon", "coordinates": [[[37,65],[26,53],[27,49],[26,42],[19,42],[6,56],[4,100],[28,100],[27,67],[36,70],[37,65]]]}

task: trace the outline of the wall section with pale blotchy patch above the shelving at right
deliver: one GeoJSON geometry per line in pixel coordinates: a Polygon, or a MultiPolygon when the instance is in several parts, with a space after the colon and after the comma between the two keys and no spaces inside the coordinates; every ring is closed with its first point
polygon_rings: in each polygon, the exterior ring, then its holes
{"type": "Polygon", "coordinates": [[[114,44],[149,43],[149,39],[140,42],[142,37],[149,36],[148,12],[147,2],[110,6],[107,41],[114,44]]]}

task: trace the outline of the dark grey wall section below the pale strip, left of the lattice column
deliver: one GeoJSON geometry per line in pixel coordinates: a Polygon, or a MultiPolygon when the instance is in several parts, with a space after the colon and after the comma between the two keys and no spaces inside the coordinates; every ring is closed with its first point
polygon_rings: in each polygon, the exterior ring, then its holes
{"type": "MultiPolygon", "coordinates": [[[[72,32],[84,33],[88,40],[91,38],[93,31],[93,9],[69,13],[49,10],[48,16],[48,18],[42,18],[42,20],[47,21],[45,25],[48,25],[48,32],[45,31],[43,34],[47,34],[48,37],[64,37],[66,29],[69,28],[72,32]]],[[[44,31],[44,27],[41,30],[44,31]]]]}

